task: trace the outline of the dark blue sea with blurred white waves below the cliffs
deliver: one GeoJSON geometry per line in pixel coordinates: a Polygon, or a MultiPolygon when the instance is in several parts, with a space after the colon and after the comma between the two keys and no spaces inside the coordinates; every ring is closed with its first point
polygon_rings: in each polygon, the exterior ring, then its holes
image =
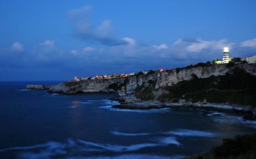
{"type": "Polygon", "coordinates": [[[113,94],[50,95],[0,83],[0,158],[181,158],[256,122],[203,109],[118,110],[113,94]]]}

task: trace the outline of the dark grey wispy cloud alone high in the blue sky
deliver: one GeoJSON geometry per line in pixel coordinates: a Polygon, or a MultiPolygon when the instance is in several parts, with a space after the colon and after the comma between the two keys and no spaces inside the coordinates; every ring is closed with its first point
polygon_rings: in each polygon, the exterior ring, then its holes
{"type": "Polygon", "coordinates": [[[104,20],[100,25],[95,26],[90,20],[90,6],[69,10],[69,17],[73,22],[73,27],[77,36],[86,42],[100,43],[107,46],[117,46],[128,44],[123,39],[116,38],[110,20],[104,20]]]}

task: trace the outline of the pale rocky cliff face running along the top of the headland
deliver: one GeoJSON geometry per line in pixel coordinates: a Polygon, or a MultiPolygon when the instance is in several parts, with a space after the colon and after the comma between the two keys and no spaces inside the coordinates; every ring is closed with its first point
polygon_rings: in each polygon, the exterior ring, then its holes
{"type": "MultiPolygon", "coordinates": [[[[254,64],[238,64],[236,65],[243,68],[247,72],[256,76],[256,65],[254,64]]],[[[208,67],[195,67],[195,68],[183,68],[179,71],[173,70],[172,72],[159,72],[157,74],[146,74],[146,75],[133,75],[128,78],[111,78],[111,79],[101,79],[101,80],[90,80],[84,82],[65,82],[59,85],[55,85],[49,89],[49,92],[59,92],[59,93],[97,93],[97,92],[113,92],[114,90],[109,88],[111,84],[121,85],[119,90],[114,91],[119,93],[119,95],[127,95],[134,93],[138,86],[147,87],[150,83],[156,83],[155,89],[160,89],[161,87],[171,86],[177,84],[184,80],[191,80],[193,78],[192,74],[195,74],[198,78],[207,78],[210,76],[224,75],[229,72],[232,68],[226,68],[226,64],[215,64],[208,67]]],[[[159,91],[159,90],[158,90],[159,91]]],[[[159,91],[156,94],[161,93],[159,91]]],[[[158,96],[158,95],[157,95],[158,96]]]]}

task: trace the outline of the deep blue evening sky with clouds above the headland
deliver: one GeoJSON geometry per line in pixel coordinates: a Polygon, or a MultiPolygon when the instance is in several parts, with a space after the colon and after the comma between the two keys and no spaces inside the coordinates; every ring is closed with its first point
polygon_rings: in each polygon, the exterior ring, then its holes
{"type": "Polygon", "coordinates": [[[0,0],[0,81],[65,81],[256,54],[255,0],[0,0]]]}

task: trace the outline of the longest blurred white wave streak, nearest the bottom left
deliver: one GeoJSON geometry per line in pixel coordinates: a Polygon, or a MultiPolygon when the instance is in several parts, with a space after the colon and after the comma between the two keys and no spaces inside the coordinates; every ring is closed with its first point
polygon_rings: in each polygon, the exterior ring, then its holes
{"type": "Polygon", "coordinates": [[[69,138],[66,142],[46,142],[44,144],[36,144],[34,146],[19,146],[12,148],[5,148],[0,150],[6,152],[10,150],[22,150],[18,152],[20,158],[54,158],[57,155],[72,156],[77,152],[133,152],[143,148],[151,148],[156,146],[181,146],[175,137],[158,138],[156,142],[132,144],[129,146],[102,144],[90,142],[86,140],[73,140],[69,138]]]}

